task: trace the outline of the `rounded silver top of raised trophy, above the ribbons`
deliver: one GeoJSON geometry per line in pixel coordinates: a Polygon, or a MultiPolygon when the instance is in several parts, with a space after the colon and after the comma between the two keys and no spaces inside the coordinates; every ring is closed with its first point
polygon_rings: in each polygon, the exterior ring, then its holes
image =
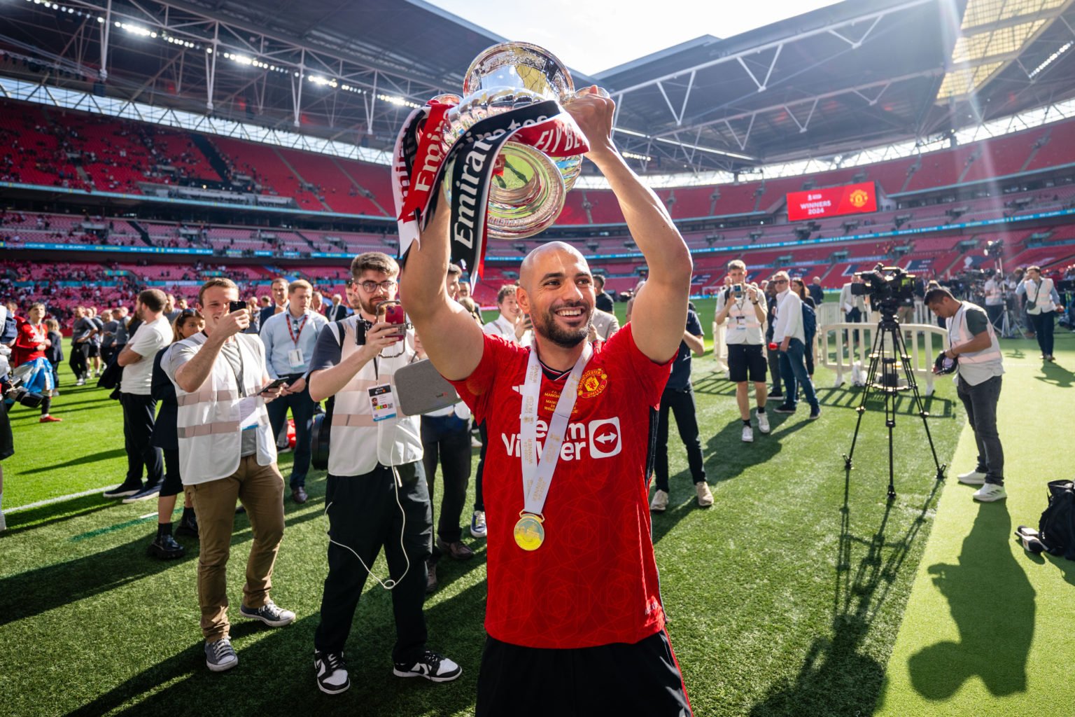
{"type": "Polygon", "coordinates": [[[528,42],[502,42],[474,58],[463,80],[463,95],[492,87],[525,88],[550,100],[575,91],[563,62],[528,42]]]}

